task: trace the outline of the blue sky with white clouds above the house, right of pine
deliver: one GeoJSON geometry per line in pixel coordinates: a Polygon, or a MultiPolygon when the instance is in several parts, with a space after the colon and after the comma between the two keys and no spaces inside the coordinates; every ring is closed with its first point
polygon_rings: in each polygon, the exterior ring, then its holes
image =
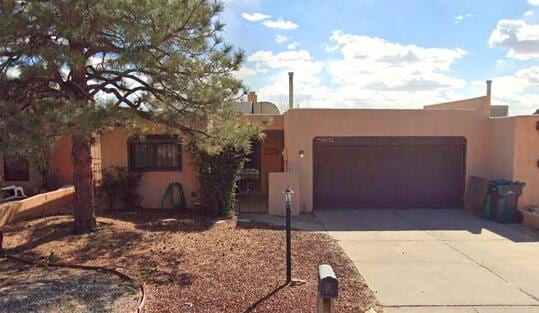
{"type": "Polygon", "coordinates": [[[421,108],[483,96],[539,109],[539,0],[225,0],[235,73],[281,110],[295,104],[421,108]]]}

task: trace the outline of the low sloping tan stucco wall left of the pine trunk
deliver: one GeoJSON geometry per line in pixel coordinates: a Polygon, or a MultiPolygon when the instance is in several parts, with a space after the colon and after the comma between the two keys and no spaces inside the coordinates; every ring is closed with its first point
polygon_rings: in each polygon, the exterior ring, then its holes
{"type": "Polygon", "coordinates": [[[0,227],[20,220],[71,212],[74,187],[0,204],[0,227]]]}

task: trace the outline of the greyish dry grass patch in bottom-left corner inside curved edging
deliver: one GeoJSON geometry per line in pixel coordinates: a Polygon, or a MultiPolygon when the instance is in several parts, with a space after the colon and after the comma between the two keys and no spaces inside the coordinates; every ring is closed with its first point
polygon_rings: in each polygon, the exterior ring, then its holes
{"type": "Polygon", "coordinates": [[[136,286],[110,273],[0,259],[0,312],[125,313],[138,297],[136,286]]]}

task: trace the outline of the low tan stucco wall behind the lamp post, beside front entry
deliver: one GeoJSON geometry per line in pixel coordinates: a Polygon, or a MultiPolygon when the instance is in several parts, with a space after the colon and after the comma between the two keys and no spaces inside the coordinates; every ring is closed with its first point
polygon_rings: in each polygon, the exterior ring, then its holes
{"type": "Polygon", "coordinates": [[[287,187],[294,191],[292,215],[299,215],[301,195],[299,175],[292,172],[269,174],[268,213],[270,215],[286,215],[283,191],[287,187]]]}

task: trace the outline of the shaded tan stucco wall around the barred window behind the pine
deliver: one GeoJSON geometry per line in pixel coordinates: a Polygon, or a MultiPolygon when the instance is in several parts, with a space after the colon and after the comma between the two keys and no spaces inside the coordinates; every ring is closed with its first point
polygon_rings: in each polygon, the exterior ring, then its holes
{"type": "MultiPolygon", "coordinates": [[[[121,129],[107,131],[101,136],[102,168],[110,166],[128,166],[128,135],[121,129]]],[[[161,200],[170,183],[182,184],[187,206],[192,207],[194,201],[192,192],[197,190],[197,179],[194,165],[187,151],[182,153],[182,171],[151,171],[145,172],[139,193],[141,205],[145,208],[160,208],[161,200]]]]}

